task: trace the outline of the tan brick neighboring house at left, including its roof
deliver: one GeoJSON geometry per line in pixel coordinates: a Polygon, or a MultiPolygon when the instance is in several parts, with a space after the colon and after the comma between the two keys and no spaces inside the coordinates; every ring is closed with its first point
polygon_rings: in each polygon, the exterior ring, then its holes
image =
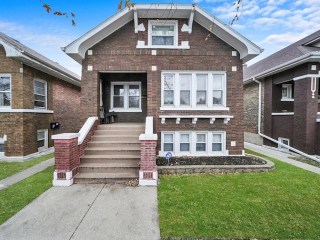
{"type": "Polygon", "coordinates": [[[24,161],[52,152],[52,134],[77,132],[80,82],[0,32],[0,159],[24,161]],[[51,129],[52,122],[60,127],[51,129]]]}

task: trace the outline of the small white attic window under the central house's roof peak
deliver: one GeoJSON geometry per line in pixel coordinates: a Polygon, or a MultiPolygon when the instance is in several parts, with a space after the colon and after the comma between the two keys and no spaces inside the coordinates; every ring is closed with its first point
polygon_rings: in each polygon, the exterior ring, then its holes
{"type": "Polygon", "coordinates": [[[176,20],[149,20],[148,21],[148,45],[176,46],[177,21],[176,20]]]}

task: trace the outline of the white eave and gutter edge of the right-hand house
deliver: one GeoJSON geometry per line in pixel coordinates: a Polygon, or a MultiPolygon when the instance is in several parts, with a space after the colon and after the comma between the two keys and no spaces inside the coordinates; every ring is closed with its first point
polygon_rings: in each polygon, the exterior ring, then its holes
{"type": "Polygon", "coordinates": [[[295,66],[301,65],[306,62],[320,62],[320,52],[319,51],[312,51],[312,52],[306,53],[302,56],[296,57],[290,61],[284,62],[280,65],[269,68],[263,72],[260,72],[258,74],[253,75],[253,76],[250,76],[246,79],[243,79],[243,84],[247,84],[247,83],[252,82],[253,78],[255,78],[256,80],[263,79],[264,77],[267,77],[269,75],[273,75],[273,74],[279,73],[281,71],[288,70],[290,68],[293,68],[295,66]]]}

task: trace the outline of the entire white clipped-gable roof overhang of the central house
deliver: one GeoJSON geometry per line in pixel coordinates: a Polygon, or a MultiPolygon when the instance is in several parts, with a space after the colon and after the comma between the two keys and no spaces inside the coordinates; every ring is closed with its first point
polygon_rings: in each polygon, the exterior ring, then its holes
{"type": "Polygon", "coordinates": [[[87,49],[127,22],[134,19],[134,28],[135,32],[137,32],[139,30],[138,18],[161,18],[161,16],[189,19],[187,26],[189,33],[192,31],[193,20],[209,31],[211,31],[210,26],[214,22],[213,34],[238,50],[243,62],[252,59],[263,50],[197,4],[171,3],[134,3],[134,7],[125,8],[115,13],[67,46],[61,47],[61,49],[81,64],[87,49]]]}

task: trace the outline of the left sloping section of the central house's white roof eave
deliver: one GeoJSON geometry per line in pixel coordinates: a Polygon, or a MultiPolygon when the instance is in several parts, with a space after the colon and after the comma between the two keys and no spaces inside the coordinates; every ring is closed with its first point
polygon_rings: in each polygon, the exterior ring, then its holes
{"type": "Polygon", "coordinates": [[[131,7],[130,10],[126,8],[122,9],[122,11],[115,13],[67,46],[61,47],[61,50],[81,64],[85,52],[89,47],[93,46],[95,43],[116,31],[118,28],[132,19],[133,8],[131,7]],[[79,56],[74,57],[74,54],[78,54],[79,56]]]}

